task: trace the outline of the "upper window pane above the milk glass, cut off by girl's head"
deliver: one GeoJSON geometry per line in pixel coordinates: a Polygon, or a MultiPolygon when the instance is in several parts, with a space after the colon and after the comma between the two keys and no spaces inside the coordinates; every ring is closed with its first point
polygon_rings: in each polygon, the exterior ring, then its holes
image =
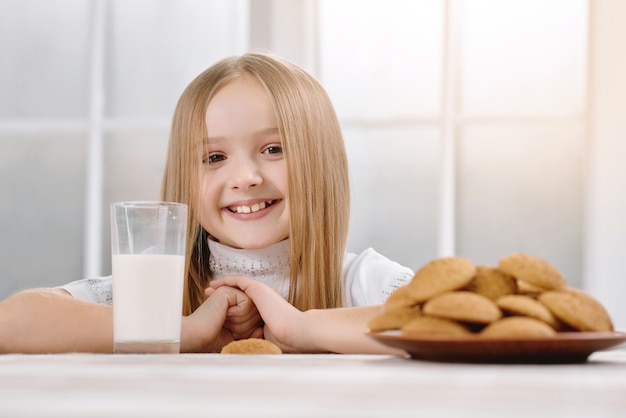
{"type": "Polygon", "coordinates": [[[110,3],[106,113],[170,119],[183,89],[218,59],[247,47],[246,2],[110,3]]]}

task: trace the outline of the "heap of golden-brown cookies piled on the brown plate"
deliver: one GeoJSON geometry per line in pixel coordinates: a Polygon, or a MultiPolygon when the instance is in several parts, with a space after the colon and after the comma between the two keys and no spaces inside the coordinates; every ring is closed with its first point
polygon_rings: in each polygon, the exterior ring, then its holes
{"type": "Polygon", "coordinates": [[[596,299],[569,287],[550,263],[525,253],[506,255],[497,267],[465,257],[435,259],[396,289],[368,325],[370,332],[400,330],[406,336],[526,338],[613,331],[596,299]]]}

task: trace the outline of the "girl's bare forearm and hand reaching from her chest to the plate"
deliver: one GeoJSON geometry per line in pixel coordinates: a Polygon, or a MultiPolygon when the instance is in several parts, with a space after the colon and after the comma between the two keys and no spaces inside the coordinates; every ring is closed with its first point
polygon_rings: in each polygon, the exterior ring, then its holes
{"type": "Polygon", "coordinates": [[[301,312],[270,287],[245,276],[213,280],[207,294],[222,286],[238,287],[252,299],[265,321],[265,338],[284,352],[406,354],[366,335],[367,323],[382,305],[301,312]]]}

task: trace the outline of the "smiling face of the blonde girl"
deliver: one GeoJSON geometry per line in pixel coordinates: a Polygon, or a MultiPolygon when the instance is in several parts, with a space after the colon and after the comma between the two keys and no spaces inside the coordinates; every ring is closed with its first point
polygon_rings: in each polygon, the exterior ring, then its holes
{"type": "Polygon", "coordinates": [[[222,244],[258,249],[289,235],[287,165],[274,110],[261,84],[242,76],[206,112],[200,223],[222,244]]]}

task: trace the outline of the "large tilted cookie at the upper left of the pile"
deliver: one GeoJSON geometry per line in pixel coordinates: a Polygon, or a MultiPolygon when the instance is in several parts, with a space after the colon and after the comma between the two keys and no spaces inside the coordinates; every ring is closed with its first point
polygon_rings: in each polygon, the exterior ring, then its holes
{"type": "Polygon", "coordinates": [[[476,266],[465,257],[442,257],[432,260],[415,272],[406,285],[415,303],[424,302],[444,292],[461,289],[476,275],[476,266]]]}

